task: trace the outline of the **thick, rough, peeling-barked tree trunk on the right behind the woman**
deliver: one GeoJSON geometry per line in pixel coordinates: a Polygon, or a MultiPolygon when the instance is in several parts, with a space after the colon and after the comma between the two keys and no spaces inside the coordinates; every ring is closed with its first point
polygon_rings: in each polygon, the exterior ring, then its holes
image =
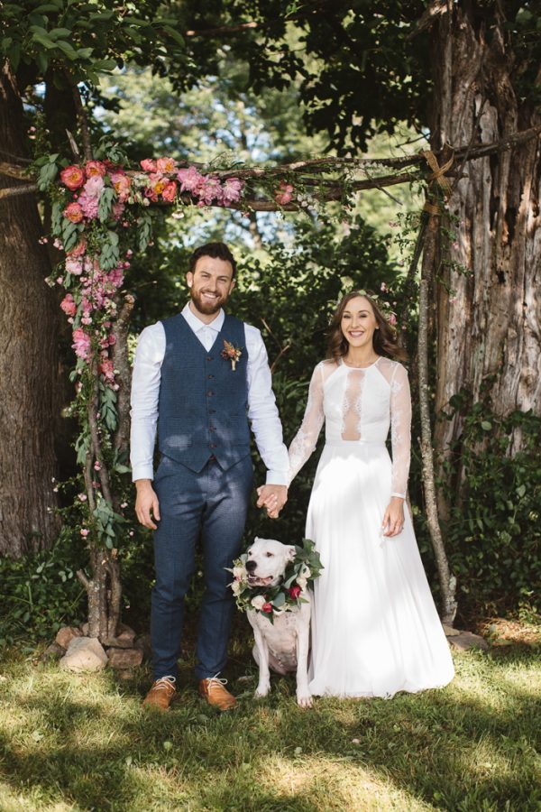
{"type": "MultiPolygon", "coordinates": [[[[513,87],[520,66],[506,42],[504,8],[488,19],[480,3],[449,0],[435,23],[434,150],[495,142],[539,124],[529,99],[519,99],[513,87]]],[[[469,273],[441,268],[436,413],[465,388],[473,401],[487,392],[500,416],[516,409],[541,414],[539,139],[466,161],[463,173],[450,200],[460,226],[449,250],[469,273]]],[[[459,415],[438,422],[440,453],[448,453],[461,431],[459,415]]],[[[516,429],[512,453],[521,444],[516,429]]]]}

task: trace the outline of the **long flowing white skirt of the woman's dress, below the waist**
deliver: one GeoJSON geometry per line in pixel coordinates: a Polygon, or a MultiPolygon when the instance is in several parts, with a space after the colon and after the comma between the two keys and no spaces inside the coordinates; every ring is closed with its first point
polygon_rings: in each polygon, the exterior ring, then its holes
{"type": "Polygon", "coordinates": [[[392,697],[445,686],[454,666],[405,507],[381,533],[391,462],[374,443],[326,445],[307,513],[325,569],[314,585],[310,690],[392,697]]]}

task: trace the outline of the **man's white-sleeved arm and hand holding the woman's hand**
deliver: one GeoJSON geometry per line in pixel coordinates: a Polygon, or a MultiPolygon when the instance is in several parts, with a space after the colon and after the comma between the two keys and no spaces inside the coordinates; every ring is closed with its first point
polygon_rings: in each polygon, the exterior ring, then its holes
{"type": "Polygon", "coordinates": [[[267,507],[271,518],[276,518],[288,499],[288,449],[283,441],[267,350],[261,333],[251,325],[246,325],[245,331],[248,346],[248,419],[267,468],[266,483],[258,489],[258,506],[267,507]]]}

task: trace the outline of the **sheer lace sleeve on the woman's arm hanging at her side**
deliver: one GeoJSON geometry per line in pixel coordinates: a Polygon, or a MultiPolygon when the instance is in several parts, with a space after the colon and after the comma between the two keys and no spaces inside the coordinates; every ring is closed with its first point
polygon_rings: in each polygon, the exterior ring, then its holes
{"type": "Polygon", "coordinates": [[[408,372],[402,364],[390,382],[390,440],[392,444],[391,496],[406,498],[411,448],[411,395],[408,372]]]}

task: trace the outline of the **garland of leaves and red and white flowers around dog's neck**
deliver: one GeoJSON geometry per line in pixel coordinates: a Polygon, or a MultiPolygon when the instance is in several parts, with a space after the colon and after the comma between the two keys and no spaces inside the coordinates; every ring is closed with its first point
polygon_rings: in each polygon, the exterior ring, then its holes
{"type": "Polygon", "coordinates": [[[302,541],[302,547],[295,545],[295,559],[286,567],[284,577],[277,586],[250,586],[246,561],[248,554],[243,553],[235,558],[233,569],[234,580],[231,583],[235,603],[241,612],[248,609],[261,612],[271,622],[283,612],[291,612],[300,604],[306,604],[302,595],[307,587],[314,586],[314,580],[321,575],[323,565],[314,542],[302,541]]]}

